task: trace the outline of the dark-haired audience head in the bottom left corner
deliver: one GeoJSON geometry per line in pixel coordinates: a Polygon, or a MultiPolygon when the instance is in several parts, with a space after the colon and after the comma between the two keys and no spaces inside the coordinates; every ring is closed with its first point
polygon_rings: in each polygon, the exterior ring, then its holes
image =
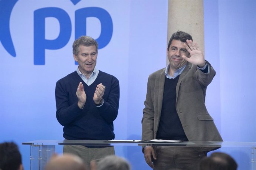
{"type": "Polygon", "coordinates": [[[22,170],[22,156],[14,142],[0,143],[0,169],[22,170]]]}

